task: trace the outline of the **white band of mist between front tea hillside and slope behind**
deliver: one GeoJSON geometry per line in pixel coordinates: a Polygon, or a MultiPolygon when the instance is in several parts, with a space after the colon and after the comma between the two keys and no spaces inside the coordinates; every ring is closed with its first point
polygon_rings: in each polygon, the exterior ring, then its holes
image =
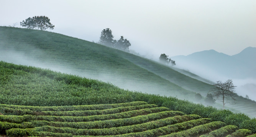
{"type": "MultiPolygon", "coordinates": [[[[35,50],[36,49],[33,49],[30,52],[35,52],[35,50]]],[[[42,54],[43,54],[43,51],[42,51],[42,54]]],[[[111,73],[90,73],[90,72],[87,72],[86,70],[77,70],[73,66],[67,66],[67,65],[61,66],[61,65],[56,65],[53,62],[47,62],[47,61],[40,62],[35,58],[28,57],[26,53],[18,52],[15,49],[13,50],[0,49],[0,55],[1,55],[0,61],[5,61],[5,62],[19,64],[19,65],[40,67],[43,69],[50,69],[56,72],[77,75],[77,76],[90,78],[90,79],[97,79],[103,82],[112,83],[115,86],[118,86],[123,89],[128,89],[130,91],[141,91],[149,94],[159,94],[161,96],[175,96],[175,97],[178,97],[179,99],[187,99],[186,95],[177,94],[178,92],[170,91],[170,89],[167,89],[166,87],[159,89],[161,88],[162,85],[147,83],[146,81],[138,81],[135,79],[133,80],[132,78],[127,78],[125,76],[118,75],[118,74],[113,75],[111,73]]]]}

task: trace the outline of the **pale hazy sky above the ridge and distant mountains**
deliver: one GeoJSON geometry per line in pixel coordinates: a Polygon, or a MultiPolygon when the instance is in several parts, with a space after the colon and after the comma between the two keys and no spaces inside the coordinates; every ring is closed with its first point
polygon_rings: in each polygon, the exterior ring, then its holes
{"type": "Polygon", "coordinates": [[[110,28],[140,54],[234,55],[256,47],[256,0],[0,0],[0,25],[48,16],[53,31],[97,42],[110,28]]]}

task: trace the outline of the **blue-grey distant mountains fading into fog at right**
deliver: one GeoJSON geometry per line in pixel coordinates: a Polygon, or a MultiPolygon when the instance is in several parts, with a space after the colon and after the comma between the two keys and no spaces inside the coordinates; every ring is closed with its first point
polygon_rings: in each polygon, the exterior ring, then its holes
{"type": "Polygon", "coordinates": [[[212,72],[230,79],[256,78],[256,48],[253,47],[248,47],[233,56],[212,49],[188,56],[174,56],[171,59],[192,72],[212,72]]]}

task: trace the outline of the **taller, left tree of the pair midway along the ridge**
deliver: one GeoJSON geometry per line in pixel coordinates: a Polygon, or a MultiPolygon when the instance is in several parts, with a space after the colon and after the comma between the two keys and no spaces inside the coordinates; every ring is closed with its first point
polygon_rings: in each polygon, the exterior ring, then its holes
{"type": "Polygon", "coordinates": [[[114,36],[112,35],[112,30],[107,28],[103,29],[100,35],[100,41],[99,43],[105,46],[110,46],[113,48],[114,46],[114,36]]]}

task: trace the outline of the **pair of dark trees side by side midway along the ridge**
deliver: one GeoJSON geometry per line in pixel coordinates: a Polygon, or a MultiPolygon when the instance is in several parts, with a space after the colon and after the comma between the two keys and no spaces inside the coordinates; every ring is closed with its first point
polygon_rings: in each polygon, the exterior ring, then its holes
{"type": "Polygon", "coordinates": [[[126,52],[129,51],[129,46],[131,46],[130,41],[125,39],[123,36],[121,36],[119,40],[114,40],[112,30],[109,28],[102,30],[99,43],[126,52]]]}

